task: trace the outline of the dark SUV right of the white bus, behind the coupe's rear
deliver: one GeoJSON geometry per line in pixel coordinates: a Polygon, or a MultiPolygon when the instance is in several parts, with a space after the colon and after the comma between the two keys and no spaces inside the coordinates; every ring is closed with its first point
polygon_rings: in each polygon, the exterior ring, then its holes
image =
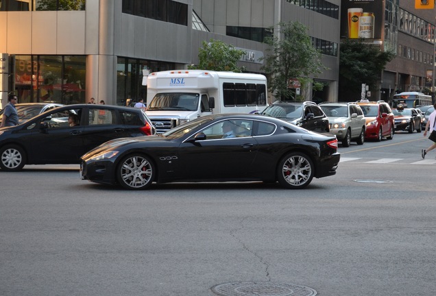
{"type": "Polygon", "coordinates": [[[275,117],[304,127],[313,132],[330,132],[328,117],[312,101],[275,101],[261,112],[261,115],[275,117]]]}

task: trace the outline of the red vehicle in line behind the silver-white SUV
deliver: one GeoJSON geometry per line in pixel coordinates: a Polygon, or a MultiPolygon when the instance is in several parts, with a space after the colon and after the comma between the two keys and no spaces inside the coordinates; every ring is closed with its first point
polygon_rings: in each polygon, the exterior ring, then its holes
{"type": "Polygon", "coordinates": [[[359,103],[366,119],[365,138],[380,141],[383,137],[393,138],[395,126],[393,113],[385,101],[359,103]]]}

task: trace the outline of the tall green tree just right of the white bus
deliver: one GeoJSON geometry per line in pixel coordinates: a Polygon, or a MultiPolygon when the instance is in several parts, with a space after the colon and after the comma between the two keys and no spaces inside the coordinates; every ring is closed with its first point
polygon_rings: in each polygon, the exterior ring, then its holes
{"type": "Polygon", "coordinates": [[[308,76],[317,75],[326,67],[321,63],[321,53],[313,47],[305,25],[280,22],[278,27],[280,36],[265,40],[270,47],[262,69],[269,74],[269,91],[278,99],[293,100],[293,92],[288,88],[289,79],[306,77],[302,80],[308,85],[312,82],[308,76]]]}

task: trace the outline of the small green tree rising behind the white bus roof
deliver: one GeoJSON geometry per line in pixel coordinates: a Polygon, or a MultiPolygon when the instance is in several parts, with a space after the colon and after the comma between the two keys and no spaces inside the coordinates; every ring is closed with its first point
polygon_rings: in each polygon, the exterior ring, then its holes
{"type": "Polygon", "coordinates": [[[189,66],[189,69],[204,69],[211,71],[242,72],[243,68],[237,66],[237,62],[246,54],[233,45],[228,45],[221,40],[210,39],[203,41],[203,47],[199,49],[199,64],[189,66]]]}

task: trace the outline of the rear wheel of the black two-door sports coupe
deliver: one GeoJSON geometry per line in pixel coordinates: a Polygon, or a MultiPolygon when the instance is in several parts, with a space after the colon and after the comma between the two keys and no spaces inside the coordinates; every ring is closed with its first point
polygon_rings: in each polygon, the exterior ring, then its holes
{"type": "Polygon", "coordinates": [[[313,179],[315,168],[306,154],[293,152],[284,156],[277,167],[277,180],[285,188],[300,189],[313,179]]]}

